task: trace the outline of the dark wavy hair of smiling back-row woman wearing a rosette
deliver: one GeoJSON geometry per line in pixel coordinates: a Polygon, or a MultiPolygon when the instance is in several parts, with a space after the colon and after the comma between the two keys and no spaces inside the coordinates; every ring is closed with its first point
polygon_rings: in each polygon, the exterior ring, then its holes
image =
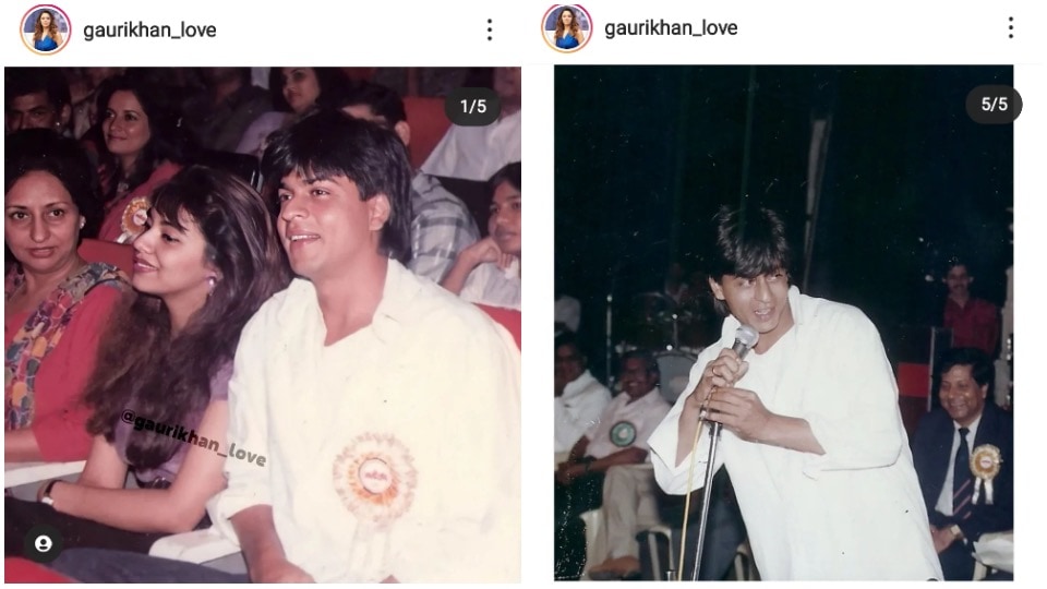
{"type": "MultiPolygon", "coordinates": [[[[98,94],[98,117],[100,122],[105,121],[106,109],[109,108],[109,100],[112,95],[120,91],[128,91],[134,94],[149,123],[149,141],[142,148],[134,167],[125,178],[122,177],[119,163],[116,156],[109,153],[105,141],[98,146],[101,165],[115,172],[115,178],[127,182],[129,187],[134,188],[148,180],[149,175],[164,161],[170,160],[176,164],[184,164],[190,160],[195,151],[195,145],[189,131],[182,125],[181,107],[171,100],[172,93],[167,92],[160,84],[149,79],[151,72],[146,70],[128,70],[123,75],[118,75],[106,81],[106,85],[98,94]]],[[[103,137],[104,139],[104,137],[103,137]]],[[[117,184],[113,181],[105,194],[105,202],[110,202],[116,197],[117,184]]]]}

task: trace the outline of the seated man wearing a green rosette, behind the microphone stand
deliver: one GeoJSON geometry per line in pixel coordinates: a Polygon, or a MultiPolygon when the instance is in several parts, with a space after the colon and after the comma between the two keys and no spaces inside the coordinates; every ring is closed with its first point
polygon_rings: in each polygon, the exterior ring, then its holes
{"type": "Polygon", "coordinates": [[[609,554],[592,568],[593,578],[639,573],[635,539],[638,522],[658,520],[658,505],[652,501],[653,471],[612,467],[647,460],[646,440],[670,406],[658,390],[658,363],[650,353],[626,353],[621,378],[622,394],[607,405],[600,422],[575,443],[567,461],[556,470],[556,578],[575,578],[581,573],[585,536],[579,515],[603,508],[609,554]]]}

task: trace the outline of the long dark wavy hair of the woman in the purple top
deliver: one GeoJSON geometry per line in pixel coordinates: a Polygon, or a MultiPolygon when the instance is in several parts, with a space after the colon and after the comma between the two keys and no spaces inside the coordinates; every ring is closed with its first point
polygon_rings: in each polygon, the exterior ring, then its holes
{"type": "MultiPolygon", "coordinates": [[[[91,433],[112,441],[124,409],[157,423],[194,426],[190,419],[210,399],[210,380],[229,362],[240,330],[272,294],[290,281],[276,226],[262,197],[224,171],[191,166],[156,191],[153,208],[183,228],[191,219],[207,242],[205,255],[218,271],[204,306],[177,335],[157,297],[132,291],[103,339],[87,386],[94,410],[91,433]]],[[[137,468],[164,464],[180,447],[165,435],[133,435],[128,459],[137,468]]]]}

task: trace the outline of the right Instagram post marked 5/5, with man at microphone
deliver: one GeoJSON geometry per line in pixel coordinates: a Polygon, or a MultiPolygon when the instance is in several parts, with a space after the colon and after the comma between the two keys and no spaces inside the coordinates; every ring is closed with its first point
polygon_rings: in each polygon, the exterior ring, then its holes
{"type": "Polygon", "coordinates": [[[1042,23],[754,4],[544,14],[547,578],[1043,577],[1042,23]]]}

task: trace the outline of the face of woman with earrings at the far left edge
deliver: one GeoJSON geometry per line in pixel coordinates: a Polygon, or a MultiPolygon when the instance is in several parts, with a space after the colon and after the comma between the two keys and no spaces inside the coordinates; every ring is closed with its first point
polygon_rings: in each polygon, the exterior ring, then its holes
{"type": "Polygon", "coordinates": [[[17,179],[3,208],[4,241],[26,273],[61,271],[76,256],[83,217],[55,176],[31,171],[17,179]]]}

